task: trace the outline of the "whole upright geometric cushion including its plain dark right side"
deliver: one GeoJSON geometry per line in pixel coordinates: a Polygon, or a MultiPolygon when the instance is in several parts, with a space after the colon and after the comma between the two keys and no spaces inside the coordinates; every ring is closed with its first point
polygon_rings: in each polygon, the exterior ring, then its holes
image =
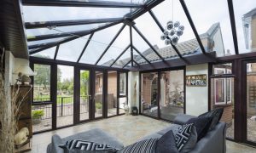
{"type": "Polygon", "coordinates": [[[197,142],[196,128],[191,124],[184,124],[178,127],[176,131],[173,132],[175,136],[175,141],[177,144],[177,150],[180,153],[189,152],[193,150],[197,142]]]}

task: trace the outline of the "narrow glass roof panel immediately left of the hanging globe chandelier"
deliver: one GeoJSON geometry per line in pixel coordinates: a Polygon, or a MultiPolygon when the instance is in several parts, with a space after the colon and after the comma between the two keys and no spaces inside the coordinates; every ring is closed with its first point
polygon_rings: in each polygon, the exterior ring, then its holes
{"type": "Polygon", "coordinates": [[[147,37],[148,41],[156,48],[157,52],[165,59],[170,59],[177,56],[175,50],[171,45],[166,46],[165,41],[160,39],[162,31],[159,26],[156,25],[154,19],[149,13],[143,14],[137,20],[135,20],[137,28],[147,37]],[[150,26],[148,26],[150,25],[150,26]],[[170,49],[164,49],[170,48],[170,49]]]}

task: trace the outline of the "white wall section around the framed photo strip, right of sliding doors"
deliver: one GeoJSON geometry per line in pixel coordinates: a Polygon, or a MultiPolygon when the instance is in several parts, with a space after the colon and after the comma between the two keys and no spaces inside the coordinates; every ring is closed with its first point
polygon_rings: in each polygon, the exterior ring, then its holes
{"type": "MultiPolygon", "coordinates": [[[[208,64],[186,66],[186,75],[207,74],[208,64]]],[[[208,84],[207,87],[186,86],[186,114],[198,116],[208,111],[208,84]]]]}

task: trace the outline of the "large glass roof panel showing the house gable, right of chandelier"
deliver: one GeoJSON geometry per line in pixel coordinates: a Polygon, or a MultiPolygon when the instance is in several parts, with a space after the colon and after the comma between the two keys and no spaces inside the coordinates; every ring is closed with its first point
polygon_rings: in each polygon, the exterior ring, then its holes
{"type": "Polygon", "coordinates": [[[204,46],[207,46],[207,43],[211,44],[207,49],[216,51],[218,56],[235,54],[227,1],[186,0],[185,2],[204,46]]]}

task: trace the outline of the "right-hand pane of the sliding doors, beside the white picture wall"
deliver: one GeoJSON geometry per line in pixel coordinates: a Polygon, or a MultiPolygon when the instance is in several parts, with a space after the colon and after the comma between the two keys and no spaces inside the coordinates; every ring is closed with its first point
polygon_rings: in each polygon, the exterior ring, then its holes
{"type": "Polygon", "coordinates": [[[160,118],[173,121],[184,111],[184,71],[163,71],[160,78],[160,118]]]}

